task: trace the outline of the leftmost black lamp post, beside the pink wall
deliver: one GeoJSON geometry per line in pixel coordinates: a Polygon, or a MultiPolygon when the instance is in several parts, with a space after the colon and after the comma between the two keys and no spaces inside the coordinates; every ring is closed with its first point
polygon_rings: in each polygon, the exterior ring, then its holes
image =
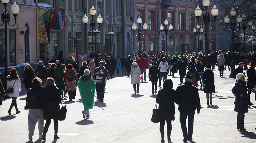
{"type": "MultiPolygon", "coordinates": [[[[9,74],[7,68],[8,68],[8,63],[7,63],[7,24],[9,26],[14,26],[16,24],[16,18],[20,12],[20,8],[19,6],[16,4],[16,2],[13,3],[13,5],[11,6],[11,13],[14,16],[14,20],[15,23],[13,25],[10,25],[10,13],[9,10],[6,10],[6,6],[9,2],[9,0],[1,0],[3,5],[4,5],[4,10],[2,10],[2,24],[0,26],[2,26],[4,24],[4,42],[5,42],[5,71],[4,71],[4,76],[5,78],[7,77],[7,75],[9,74]]],[[[4,82],[4,87],[7,87],[7,80],[5,80],[4,82]]]]}

